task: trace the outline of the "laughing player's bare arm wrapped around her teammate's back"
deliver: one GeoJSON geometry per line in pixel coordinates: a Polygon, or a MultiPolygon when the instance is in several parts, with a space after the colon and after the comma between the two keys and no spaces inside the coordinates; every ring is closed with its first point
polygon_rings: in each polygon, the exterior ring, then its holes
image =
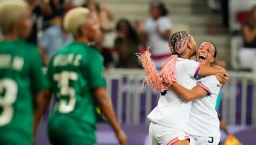
{"type": "Polygon", "coordinates": [[[185,102],[189,102],[200,97],[205,97],[207,95],[207,91],[198,85],[196,85],[191,90],[188,90],[188,88],[185,88],[184,86],[181,86],[178,83],[173,83],[173,85],[170,88],[185,102]]]}

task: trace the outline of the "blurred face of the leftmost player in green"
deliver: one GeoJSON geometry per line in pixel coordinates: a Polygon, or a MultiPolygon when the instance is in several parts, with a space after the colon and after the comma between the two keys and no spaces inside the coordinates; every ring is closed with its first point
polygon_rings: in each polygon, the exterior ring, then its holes
{"type": "Polygon", "coordinates": [[[20,18],[20,21],[17,22],[16,26],[19,37],[23,39],[28,38],[32,27],[30,13],[26,13],[25,15],[23,15],[22,18],[20,18]]]}

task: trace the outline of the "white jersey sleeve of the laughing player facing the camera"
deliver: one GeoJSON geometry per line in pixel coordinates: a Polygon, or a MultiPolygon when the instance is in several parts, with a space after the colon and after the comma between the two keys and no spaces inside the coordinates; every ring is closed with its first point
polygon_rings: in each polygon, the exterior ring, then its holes
{"type": "Polygon", "coordinates": [[[204,88],[204,90],[207,92],[207,95],[211,95],[212,93],[215,93],[218,95],[220,92],[220,86],[217,86],[220,83],[216,76],[206,76],[202,79],[198,80],[198,86],[201,86],[204,88]]]}

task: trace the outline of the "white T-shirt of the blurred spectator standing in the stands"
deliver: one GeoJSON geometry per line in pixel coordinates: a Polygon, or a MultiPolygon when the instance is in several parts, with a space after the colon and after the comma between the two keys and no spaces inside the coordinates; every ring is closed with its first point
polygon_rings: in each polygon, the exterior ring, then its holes
{"type": "Polygon", "coordinates": [[[145,29],[148,34],[149,45],[151,47],[151,53],[154,56],[169,54],[168,41],[161,38],[157,29],[160,32],[171,30],[172,23],[168,17],[160,17],[157,20],[148,18],[145,22],[145,29]]]}

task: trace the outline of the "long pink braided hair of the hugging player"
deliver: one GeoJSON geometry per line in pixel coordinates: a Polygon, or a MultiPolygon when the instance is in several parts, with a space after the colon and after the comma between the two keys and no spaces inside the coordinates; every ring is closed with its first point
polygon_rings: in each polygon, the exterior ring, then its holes
{"type": "Polygon", "coordinates": [[[150,58],[151,53],[147,50],[145,53],[136,53],[138,59],[141,60],[142,66],[145,69],[147,77],[143,81],[143,85],[149,84],[154,90],[163,92],[177,81],[174,74],[174,67],[177,62],[177,58],[187,48],[190,34],[185,31],[176,32],[169,40],[171,57],[161,64],[162,70],[157,72],[156,65],[150,58]]]}

